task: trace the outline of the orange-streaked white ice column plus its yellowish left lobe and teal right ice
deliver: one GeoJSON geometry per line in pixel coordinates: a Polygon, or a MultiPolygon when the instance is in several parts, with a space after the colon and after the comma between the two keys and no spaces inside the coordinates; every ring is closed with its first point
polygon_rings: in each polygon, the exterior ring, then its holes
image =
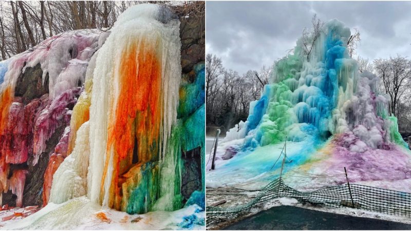
{"type": "Polygon", "coordinates": [[[180,47],[169,9],[141,4],[120,15],[90,60],[70,121],[73,157],[55,172],[49,202],[87,195],[129,214],[182,207],[182,151],[199,147],[203,157],[204,66],[180,88],[180,47]]]}

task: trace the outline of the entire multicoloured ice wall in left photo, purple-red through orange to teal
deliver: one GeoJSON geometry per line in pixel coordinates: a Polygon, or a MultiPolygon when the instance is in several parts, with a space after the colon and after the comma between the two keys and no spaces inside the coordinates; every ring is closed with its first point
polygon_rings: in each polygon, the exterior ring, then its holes
{"type": "Polygon", "coordinates": [[[183,157],[204,156],[205,68],[182,76],[179,25],[168,8],[140,4],[109,32],[63,33],[0,63],[0,189],[16,206],[26,169],[50,155],[48,209],[79,197],[128,214],[204,209],[202,166],[191,196],[181,184],[183,157]]]}

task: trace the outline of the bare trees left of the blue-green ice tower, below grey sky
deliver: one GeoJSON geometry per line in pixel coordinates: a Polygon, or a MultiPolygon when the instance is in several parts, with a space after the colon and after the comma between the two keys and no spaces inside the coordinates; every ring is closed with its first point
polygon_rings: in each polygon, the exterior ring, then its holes
{"type": "Polygon", "coordinates": [[[207,124],[232,127],[240,120],[247,120],[250,102],[261,97],[270,75],[271,69],[266,66],[263,66],[259,72],[248,70],[239,75],[234,70],[226,70],[221,59],[216,55],[207,54],[207,124]]]}

